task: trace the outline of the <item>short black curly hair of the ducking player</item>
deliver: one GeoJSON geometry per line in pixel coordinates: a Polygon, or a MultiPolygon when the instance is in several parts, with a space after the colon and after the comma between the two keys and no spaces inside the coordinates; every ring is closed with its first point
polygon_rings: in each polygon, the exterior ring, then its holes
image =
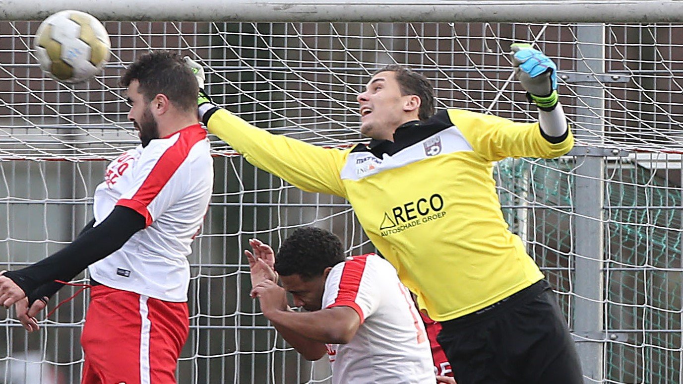
{"type": "Polygon", "coordinates": [[[275,271],[281,276],[300,275],[307,280],[322,275],[328,266],[343,262],[342,241],[320,228],[298,228],[283,241],[275,256],[275,271]]]}

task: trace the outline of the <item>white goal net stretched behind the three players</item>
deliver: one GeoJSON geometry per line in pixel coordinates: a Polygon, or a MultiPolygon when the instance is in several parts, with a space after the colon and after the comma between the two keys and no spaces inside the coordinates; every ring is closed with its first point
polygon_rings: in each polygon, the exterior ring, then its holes
{"type": "MultiPolygon", "coordinates": [[[[138,141],[117,80],[150,49],[200,59],[214,101],[255,126],[344,147],[363,140],[355,96],[385,64],[425,74],[439,109],[535,120],[508,56],[512,42],[531,42],[559,67],[578,142],[561,159],[497,165],[505,217],[558,292],[582,359],[596,354],[587,378],[682,381],[680,25],[606,24],[596,36],[577,23],[108,21],[111,63],[71,87],[40,72],[31,49],[39,23],[0,22],[0,269],[44,258],[92,218],[107,160],[138,141]],[[595,159],[598,176],[583,174],[595,159]],[[602,201],[582,197],[583,180],[601,186],[602,201]],[[591,214],[586,204],[596,203],[591,214]],[[586,234],[577,223],[599,230],[586,234]],[[585,251],[590,244],[598,251],[585,251]],[[582,262],[597,263],[590,284],[577,270],[582,262]],[[595,305],[597,312],[583,309],[595,305]]],[[[277,247],[303,225],[332,230],[350,255],[374,247],[344,200],[303,193],[215,138],[212,150],[214,195],[190,256],[191,333],[178,381],[326,382],[324,361],[300,359],[249,298],[242,250],[253,237],[277,247]]],[[[73,293],[64,288],[50,307],[73,293]]],[[[79,381],[86,295],[42,320],[37,333],[0,311],[0,383],[79,381]]]]}

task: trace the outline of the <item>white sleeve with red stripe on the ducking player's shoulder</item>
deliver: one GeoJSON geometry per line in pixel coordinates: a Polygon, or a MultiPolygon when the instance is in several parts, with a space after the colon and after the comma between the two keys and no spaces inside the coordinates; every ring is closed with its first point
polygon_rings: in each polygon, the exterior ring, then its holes
{"type": "Polygon", "coordinates": [[[380,282],[373,278],[376,273],[368,257],[379,256],[354,256],[334,266],[325,282],[322,303],[324,308],[351,307],[360,316],[361,324],[374,314],[381,298],[380,282]]]}

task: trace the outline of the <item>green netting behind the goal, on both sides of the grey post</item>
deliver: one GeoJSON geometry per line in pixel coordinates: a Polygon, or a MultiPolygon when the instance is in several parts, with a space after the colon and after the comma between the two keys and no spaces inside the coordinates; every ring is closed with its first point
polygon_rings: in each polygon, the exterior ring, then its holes
{"type": "MultiPolygon", "coordinates": [[[[527,242],[572,312],[573,161],[508,159],[495,170],[511,229],[527,242]]],[[[680,383],[682,364],[681,190],[667,172],[609,162],[604,200],[604,342],[608,382],[680,383]]],[[[599,234],[596,234],[599,236],[599,234]]],[[[575,239],[585,241],[585,239],[575,239]]],[[[595,282],[600,284],[600,282],[595,282]]],[[[570,324],[572,321],[570,321],[570,324]]]]}

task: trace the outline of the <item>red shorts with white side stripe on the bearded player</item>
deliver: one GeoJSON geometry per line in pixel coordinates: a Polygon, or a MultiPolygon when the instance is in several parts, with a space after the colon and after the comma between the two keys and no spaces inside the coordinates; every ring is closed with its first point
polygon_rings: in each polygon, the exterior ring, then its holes
{"type": "Polygon", "coordinates": [[[187,303],[94,286],[81,346],[83,384],[175,384],[187,303]]]}

